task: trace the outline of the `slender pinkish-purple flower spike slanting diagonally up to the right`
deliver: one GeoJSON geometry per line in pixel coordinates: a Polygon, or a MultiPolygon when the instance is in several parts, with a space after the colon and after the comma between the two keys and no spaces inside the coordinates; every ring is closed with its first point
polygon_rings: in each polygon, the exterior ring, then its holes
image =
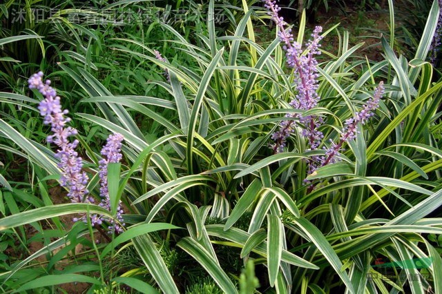
{"type": "Polygon", "coordinates": [[[331,146],[325,152],[325,157],[321,158],[320,166],[325,166],[327,164],[334,163],[336,161],[336,155],[339,154],[340,148],[342,148],[344,142],[348,142],[356,138],[357,125],[359,123],[365,124],[367,120],[374,115],[374,110],[378,108],[379,101],[382,98],[384,93],[384,83],[381,81],[379,86],[374,91],[373,98],[370,98],[367,101],[367,104],[363,106],[363,109],[359,112],[356,112],[355,116],[349,118],[345,121],[344,128],[342,134],[340,135],[340,141],[338,144],[335,144],[332,141],[331,146]]]}

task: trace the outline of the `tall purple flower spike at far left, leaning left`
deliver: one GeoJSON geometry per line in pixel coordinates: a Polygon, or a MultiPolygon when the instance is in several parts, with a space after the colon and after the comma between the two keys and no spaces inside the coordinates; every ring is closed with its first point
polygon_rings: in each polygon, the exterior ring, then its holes
{"type": "Polygon", "coordinates": [[[44,116],[44,124],[50,124],[53,135],[47,137],[48,143],[56,144],[59,149],[55,157],[60,159],[58,167],[61,168],[61,186],[68,188],[68,197],[72,202],[93,203],[92,197],[86,197],[88,190],[88,175],[81,171],[83,167],[81,157],[75,151],[78,140],[69,142],[69,137],[77,135],[77,130],[66,123],[70,118],[65,117],[68,110],[61,110],[60,97],[57,91],[50,86],[50,80],[43,82],[43,72],[37,72],[28,79],[30,89],[37,89],[45,99],[40,102],[38,109],[44,116]]]}

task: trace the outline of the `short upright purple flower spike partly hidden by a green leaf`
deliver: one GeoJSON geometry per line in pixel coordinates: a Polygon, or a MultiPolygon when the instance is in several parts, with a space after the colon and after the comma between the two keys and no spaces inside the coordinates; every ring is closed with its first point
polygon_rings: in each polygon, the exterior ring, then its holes
{"type": "MultiPolygon", "coordinates": [[[[104,155],[104,158],[99,161],[99,179],[101,186],[99,189],[99,195],[100,197],[102,197],[102,202],[99,204],[99,206],[102,206],[107,210],[111,210],[107,179],[108,164],[117,163],[122,159],[121,148],[123,139],[123,135],[118,133],[109,135],[106,146],[104,146],[102,149],[102,155],[104,155]]],[[[124,210],[122,209],[122,202],[120,200],[117,207],[116,218],[118,222],[122,224],[122,226],[125,226],[125,224],[123,223],[122,213],[124,213],[124,210]]],[[[113,233],[113,231],[115,231],[116,233],[122,233],[122,226],[116,224],[114,219],[108,219],[108,222],[111,224],[111,226],[108,226],[109,233],[113,233]]]]}

